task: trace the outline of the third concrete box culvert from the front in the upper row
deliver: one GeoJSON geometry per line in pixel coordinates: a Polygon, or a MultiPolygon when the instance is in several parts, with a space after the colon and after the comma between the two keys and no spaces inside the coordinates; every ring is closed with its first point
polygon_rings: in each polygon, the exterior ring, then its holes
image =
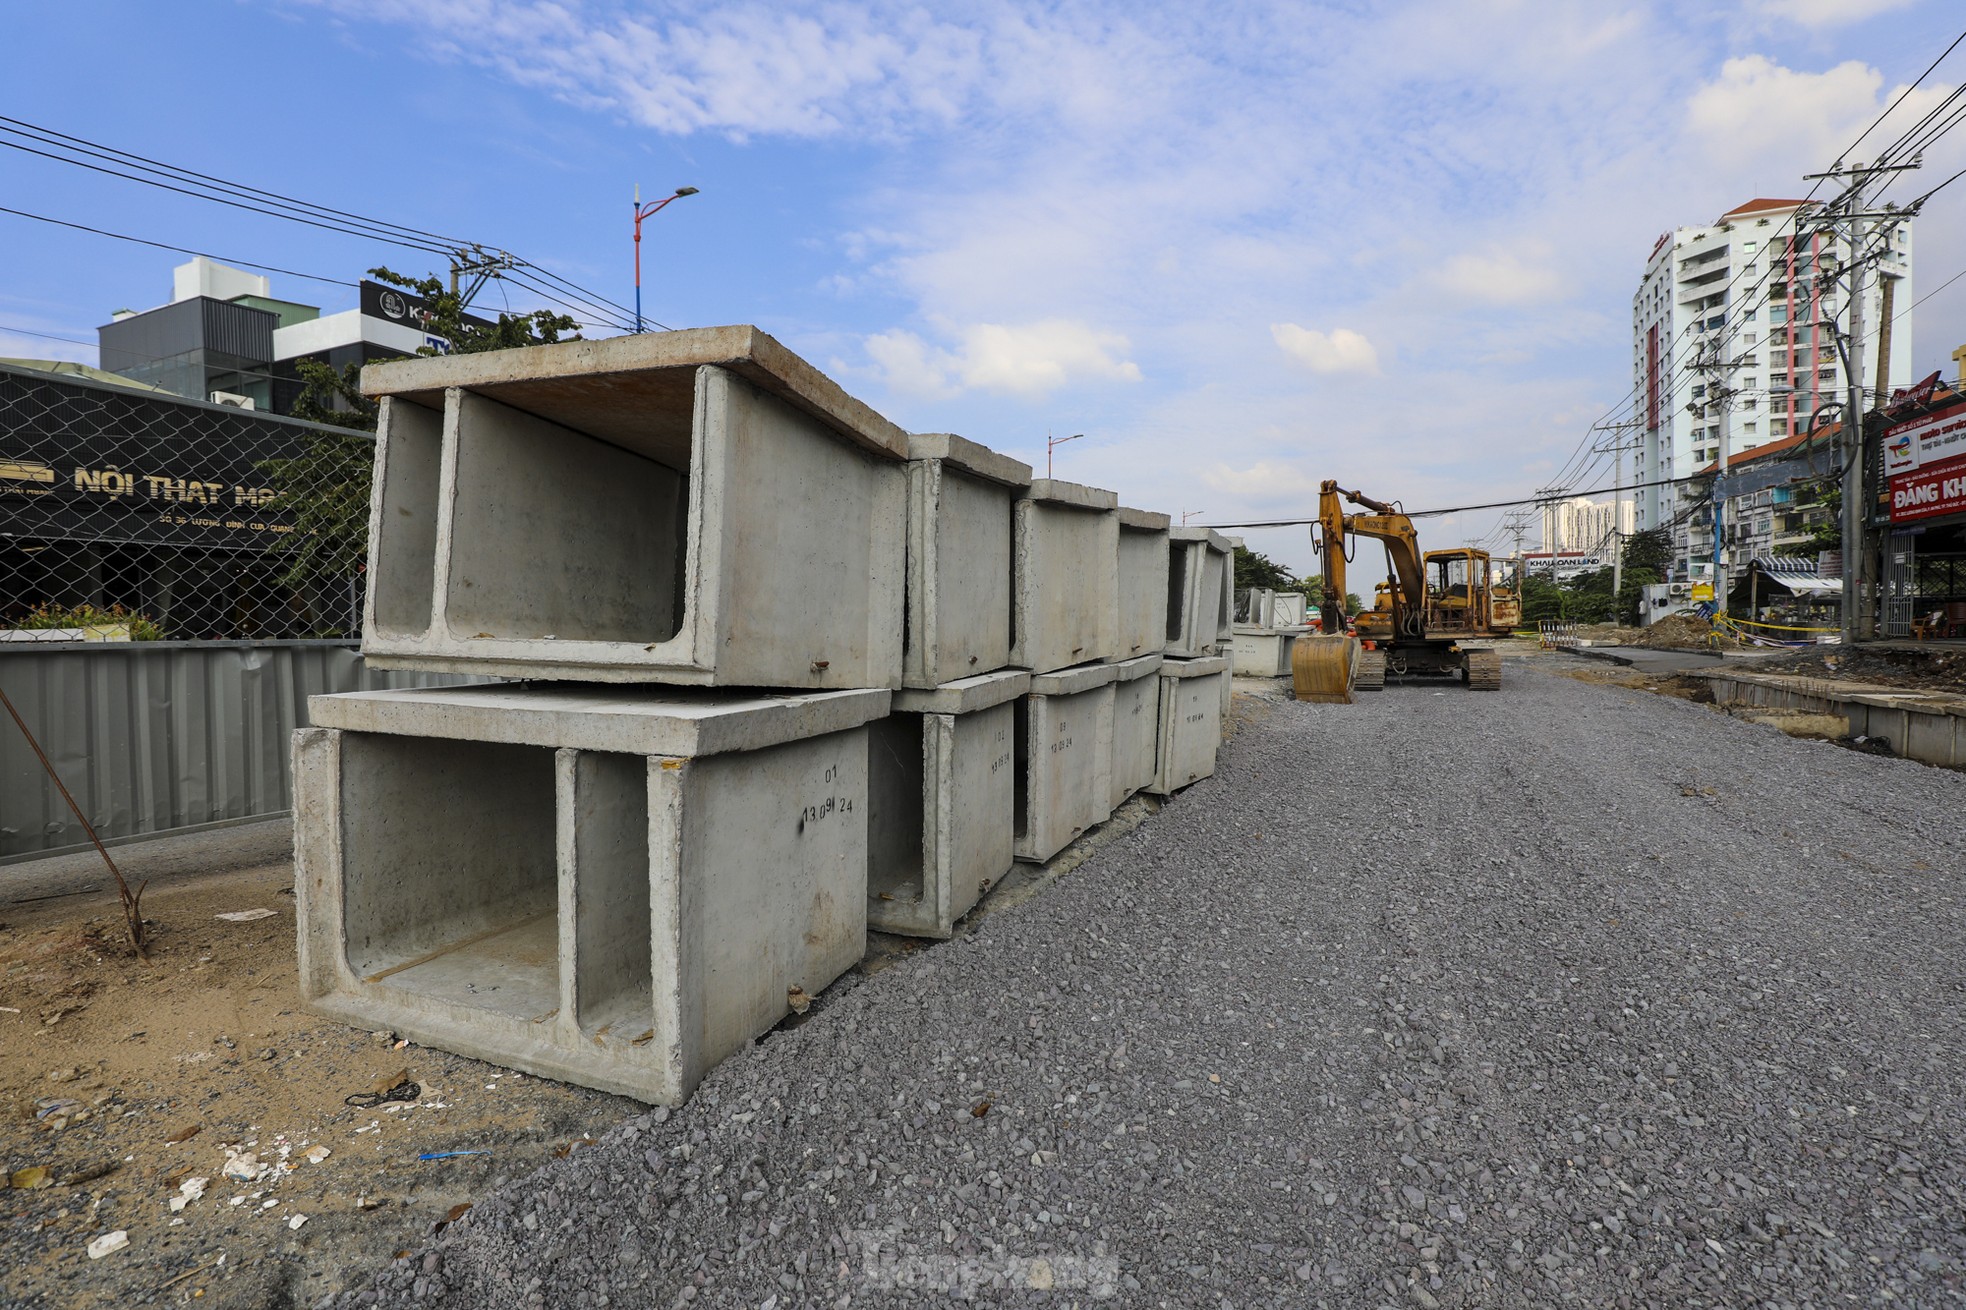
{"type": "Polygon", "coordinates": [[[1119,655],[1119,496],[1036,478],[1012,507],[1011,663],[1052,673],[1119,655]]]}

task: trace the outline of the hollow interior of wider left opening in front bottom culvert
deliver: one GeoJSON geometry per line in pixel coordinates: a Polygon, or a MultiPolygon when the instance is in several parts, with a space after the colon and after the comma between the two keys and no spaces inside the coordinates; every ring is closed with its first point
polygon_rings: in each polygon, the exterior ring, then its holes
{"type": "Polygon", "coordinates": [[[348,734],[342,865],[358,978],[521,1019],[558,1009],[550,749],[348,734]]]}

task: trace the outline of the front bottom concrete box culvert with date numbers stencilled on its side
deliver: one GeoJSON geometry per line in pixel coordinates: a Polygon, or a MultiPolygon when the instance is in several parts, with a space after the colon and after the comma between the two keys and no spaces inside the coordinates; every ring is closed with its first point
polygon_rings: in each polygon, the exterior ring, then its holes
{"type": "Polygon", "coordinates": [[[867,944],[887,690],[315,696],[293,740],[317,1013],[643,1102],[867,944]]]}

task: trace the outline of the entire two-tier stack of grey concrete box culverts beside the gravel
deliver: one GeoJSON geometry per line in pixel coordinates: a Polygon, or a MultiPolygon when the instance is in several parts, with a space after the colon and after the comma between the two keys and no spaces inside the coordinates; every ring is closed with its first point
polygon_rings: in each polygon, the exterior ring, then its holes
{"type": "Polygon", "coordinates": [[[320,696],[301,974],[649,1102],[1011,867],[1213,771],[1227,539],[908,437],[749,327],[401,360],[364,653],[320,696]]]}

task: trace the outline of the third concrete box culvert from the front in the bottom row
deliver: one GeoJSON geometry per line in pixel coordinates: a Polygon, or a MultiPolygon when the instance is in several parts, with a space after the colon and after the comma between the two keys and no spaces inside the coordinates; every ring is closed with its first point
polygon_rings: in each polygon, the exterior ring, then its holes
{"type": "Polygon", "coordinates": [[[1016,702],[1018,860],[1044,863],[1113,814],[1113,679],[1079,665],[1030,679],[1016,702]]]}

